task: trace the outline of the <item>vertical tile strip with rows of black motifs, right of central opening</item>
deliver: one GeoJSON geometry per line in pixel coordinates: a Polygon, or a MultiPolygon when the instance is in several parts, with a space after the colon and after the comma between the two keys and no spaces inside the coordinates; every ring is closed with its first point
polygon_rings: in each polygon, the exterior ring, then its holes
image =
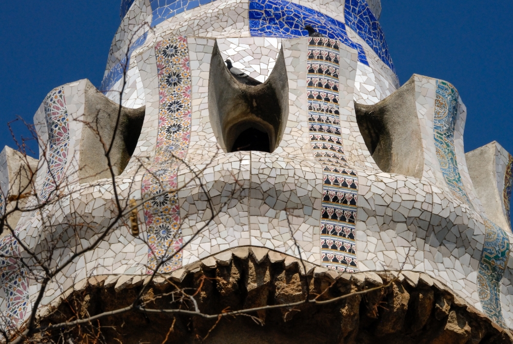
{"type": "Polygon", "coordinates": [[[315,157],[323,165],[321,218],[323,266],[357,271],[356,204],[358,178],[349,169],[339,120],[339,42],[312,37],[308,46],[308,120],[315,157]]]}

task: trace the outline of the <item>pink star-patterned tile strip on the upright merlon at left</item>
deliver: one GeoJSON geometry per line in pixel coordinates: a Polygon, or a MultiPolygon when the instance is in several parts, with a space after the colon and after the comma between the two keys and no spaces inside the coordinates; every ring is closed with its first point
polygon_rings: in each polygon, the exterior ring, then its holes
{"type": "Polygon", "coordinates": [[[48,129],[48,172],[46,173],[41,199],[47,199],[61,181],[68,161],[69,123],[64,87],[53,89],[44,102],[48,129]]]}

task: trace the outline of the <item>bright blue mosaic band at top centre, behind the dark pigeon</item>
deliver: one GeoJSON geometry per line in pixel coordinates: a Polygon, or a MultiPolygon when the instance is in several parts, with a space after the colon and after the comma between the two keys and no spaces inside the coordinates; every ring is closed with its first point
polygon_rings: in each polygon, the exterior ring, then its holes
{"type": "Polygon", "coordinates": [[[358,51],[358,60],[368,66],[362,46],[347,36],[346,26],[324,13],[286,0],[250,0],[249,31],[251,36],[294,38],[308,36],[310,24],[328,38],[358,51]]]}

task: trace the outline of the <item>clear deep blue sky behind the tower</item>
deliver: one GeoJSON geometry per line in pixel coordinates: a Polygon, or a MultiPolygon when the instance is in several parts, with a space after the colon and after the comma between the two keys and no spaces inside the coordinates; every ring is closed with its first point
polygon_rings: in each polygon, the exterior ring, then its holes
{"type": "MultiPolygon", "coordinates": [[[[467,106],[465,150],[497,140],[513,153],[513,3],[382,0],[382,6],[401,83],[413,73],[451,82],[467,106]]],[[[7,122],[19,115],[32,123],[52,88],[82,78],[101,84],[119,13],[119,0],[4,2],[0,147],[15,147],[7,122]]],[[[18,138],[25,132],[21,124],[14,130],[18,138]]],[[[29,146],[37,155],[36,145],[29,146]]]]}

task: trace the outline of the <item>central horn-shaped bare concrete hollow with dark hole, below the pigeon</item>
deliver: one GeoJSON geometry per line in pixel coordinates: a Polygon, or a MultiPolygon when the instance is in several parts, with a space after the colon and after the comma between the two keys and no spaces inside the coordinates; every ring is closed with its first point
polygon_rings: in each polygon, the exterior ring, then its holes
{"type": "Polygon", "coordinates": [[[288,78],[283,51],[263,84],[247,85],[230,73],[216,44],[209,74],[210,123],[222,149],[227,153],[272,153],[280,143],[288,116],[288,78]]]}

